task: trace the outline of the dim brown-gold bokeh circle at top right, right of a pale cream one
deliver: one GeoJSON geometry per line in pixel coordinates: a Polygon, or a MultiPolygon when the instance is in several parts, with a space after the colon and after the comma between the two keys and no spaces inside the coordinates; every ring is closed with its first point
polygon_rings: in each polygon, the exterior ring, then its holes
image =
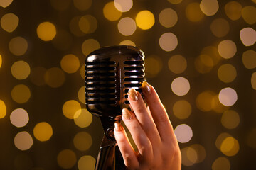
{"type": "Polygon", "coordinates": [[[231,20],[238,20],[242,16],[242,5],[238,1],[230,1],[225,4],[225,14],[231,20]]]}

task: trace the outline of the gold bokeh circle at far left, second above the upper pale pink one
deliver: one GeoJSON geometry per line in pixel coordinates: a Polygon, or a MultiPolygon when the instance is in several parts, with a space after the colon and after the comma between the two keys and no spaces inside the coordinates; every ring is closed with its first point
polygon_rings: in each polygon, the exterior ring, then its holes
{"type": "Polygon", "coordinates": [[[31,73],[31,69],[29,67],[29,64],[24,61],[18,61],[14,62],[14,64],[11,66],[11,74],[16,79],[26,79],[29,74],[31,73]]]}

